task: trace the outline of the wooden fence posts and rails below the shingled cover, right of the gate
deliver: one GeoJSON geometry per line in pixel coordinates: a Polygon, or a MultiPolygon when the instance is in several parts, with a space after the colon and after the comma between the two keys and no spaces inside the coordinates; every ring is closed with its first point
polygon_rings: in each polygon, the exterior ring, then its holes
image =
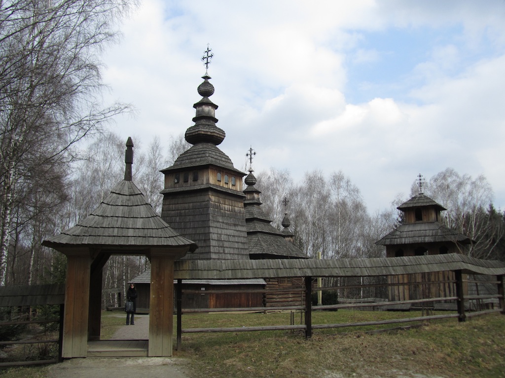
{"type": "MultiPolygon", "coordinates": [[[[440,296],[440,297],[428,297],[420,299],[411,300],[387,300],[387,298],[375,298],[373,300],[367,298],[340,298],[337,304],[326,304],[326,305],[313,305],[312,304],[312,293],[323,290],[331,290],[337,292],[349,292],[351,289],[358,289],[362,292],[362,289],[370,287],[386,287],[387,289],[398,285],[407,285],[407,283],[394,283],[389,280],[388,283],[381,284],[357,284],[357,285],[346,285],[346,286],[333,286],[333,287],[315,287],[316,280],[311,276],[304,277],[305,287],[304,288],[293,288],[293,292],[303,293],[305,298],[305,303],[300,303],[300,305],[293,306],[282,306],[282,307],[240,307],[240,308],[182,308],[182,295],[186,293],[182,290],[182,279],[177,280],[176,285],[176,312],[177,312],[177,349],[180,350],[182,344],[182,334],[183,333],[209,333],[209,332],[250,332],[250,331],[278,331],[278,330],[304,330],[306,338],[312,336],[313,330],[318,329],[328,329],[328,328],[343,328],[343,327],[363,327],[363,326],[381,326],[387,324],[404,324],[411,322],[420,322],[435,319],[448,319],[457,318],[459,322],[464,322],[467,318],[480,316],[483,314],[500,312],[505,314],[505,300],[503,291],[503,276],[495,276],[495,280],[483,281],[483,280],[470,280],[466,274],[463,274],[461,270],[457,270],[453,275],[456,277],[455,280],[440,281],[438,284],[446,287],[450,285],[453,287],[452,292],[456,293],[456,296],[440,296]],[[468,294],[468,287],[471,284],[484,285],[490,284],[494,286],[494,293],[488,294],[486,292],[480,294],[468,294]],[[482,303],[483,301],[491,301],[491,308],[482,308],[479,305],[472,305],[472,303],[482,303]],[[401,310],[409,308],[419,308],[422,310],[423,316],[414,318],[402,318],[402,319],[390,319],[390,320],[380,320],[371,322],[357,322],[357,323],[345,323],[345,324],[313,324],[312,323],[312,311],[313,310],[338,310],[338,309],[371,309],[371,310],[401,310]],[[434,314],[433,310],[439,308],[440,310],[450,310],[453,311],[439,311],[445,313],[434,314]],[[477,310],[476,310],[477,309],[477,310]],[[229,311],[269,311],[269,310],[286,310],[286,311],[301,311],[304,313],[304,324],[295,325],[291,320],[290,325],[273,325],[273,326],[261,326],[261,327],[224,327],[224,328],[182,328],[182,314],[184,313],[196,313],[196,312],[229,312],[229,311]],[[471,310],[471,311],[470,311],[471,310]]],[[[387,280],[384,280],[387,281],[387,280]]],[[[410,283],[412,284],[412,282],[410,283]]],[[[427,282],[417,282],[416,285],[419,287],[431,286],[436,284],[432,281],[427,282]]],[[[268,290],[254,290],[255,292],[262,292],[264,295],[272,294],[272,289],[268,290]]],[[[275,291],[275,289],[274,289],[275,291]]],[[[389,291],[389,290],[387,290],[389,291]]],[[[386,292],[387,292],[386,291],[386,292]]],[[[422,290],[421,290],[422,291],[422,290]]],[[[227,293],[234,293],[234,290],[227,290],[227,293]]],[[[241,291],[243,292],[243,291],[241,291]]]]}

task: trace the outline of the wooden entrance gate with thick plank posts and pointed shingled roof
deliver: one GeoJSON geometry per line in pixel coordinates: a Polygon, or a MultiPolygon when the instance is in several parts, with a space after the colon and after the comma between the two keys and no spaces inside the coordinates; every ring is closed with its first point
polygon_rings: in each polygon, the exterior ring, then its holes
{"type": "Polygon", "coordinates": [[[172,355],[174,261],[196,244],[175,232],[132,182],[133,143],[125,178],[82,222],[43,241],[67,256],[63,357],[86,357],[100,339],[102,270],[112,255],[144,255],[151,263],[148,356],[172,355]]]}

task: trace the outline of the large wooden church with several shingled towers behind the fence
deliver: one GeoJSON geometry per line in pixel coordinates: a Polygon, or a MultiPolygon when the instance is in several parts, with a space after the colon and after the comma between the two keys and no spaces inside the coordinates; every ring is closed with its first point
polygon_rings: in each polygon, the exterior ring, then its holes
{"type": "MultiPolygon", "coordinates": [[[[209,53],[208,50],[207,53],[209,53]]],[[[208,55],[209,56],[209,55],[208,55]]],[[[207,64],[208,66],[208,64],[207,64]]],[[[192,146],[168,168],[165,176],[162,219],[181,235],[193,240],[198,248],[182,259],[249,260],[249,259],[304,259],[304,254],[292,243],[292,234],[281,232],[270,224],[261,208],[260,191],[255,188],[252,170],[244,172],[233,166],[230,158],[217,146],[226,134],[216,123],[216,109],[210,97],[214,86],[206,74],[198,86],[202,98],[196,102],[194,125],[186,130],[185,139],[192,146]]],[[[252,152],[252,150],[250,151],[252,152]]],[[[251,160],[252,161],[252,160],[251,160]]],[[[146,272],[148,273],[148,272],[146,272]]],[[[147,274],[132,278],[139,297],[148,297],[147,274]],[[141,295],[142,293],[142,295],[141,295]]],[[[225,285],[240,288],[269,289],[299,287],[290,279],[241,280],[240,282],[206,280],[183,281],[184,290],[200,291],[199,295],[184,295],[183,307],[240,307],[272,306],[301,303],[296,295],[213,294],[225,285]],[[185,302],[184,302],[185,301],[185,302]]],[[[140,305],[140,307],[142,307],[140,305]]]]}

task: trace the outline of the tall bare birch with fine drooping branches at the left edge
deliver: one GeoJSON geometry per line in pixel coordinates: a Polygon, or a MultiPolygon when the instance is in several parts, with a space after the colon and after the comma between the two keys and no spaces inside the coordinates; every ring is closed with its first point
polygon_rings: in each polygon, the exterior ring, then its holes
{"type": "MultiPolygon", "coordinates": [[[[65,172],[74,146],[126,106],[101,105],[99,53],[128,0],[0,2],[0,285],[21,187],[65,172]],[[33,174],[38,172],[37,180],[33,174]]],[[[21,191],[21,192],[20,192],[21,191]]]]}

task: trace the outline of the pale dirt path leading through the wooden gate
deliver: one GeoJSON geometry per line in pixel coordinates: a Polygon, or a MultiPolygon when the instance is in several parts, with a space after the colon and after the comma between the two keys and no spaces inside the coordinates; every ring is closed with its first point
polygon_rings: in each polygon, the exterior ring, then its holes
{"type": "MultiPolygon", "coordinates": [[[[126,323],[126,318],[125,318],[126,323]]],[[[134,326],[122,326],[112,337],[115,340],[148,338],[149,316],[136,315],[134,326]]],[[[175,357],[71,358],[47,367],[47,378],[188,378],[186,361],[175,357]]]]}

